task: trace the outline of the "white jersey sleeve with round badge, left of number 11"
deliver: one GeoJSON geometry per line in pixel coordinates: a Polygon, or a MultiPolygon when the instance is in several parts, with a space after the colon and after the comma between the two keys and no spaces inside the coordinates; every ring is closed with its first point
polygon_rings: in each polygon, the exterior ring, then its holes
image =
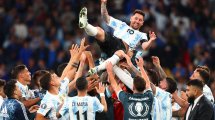
{"type": "Polygon", "coordinates": [[[51,111],[52,108],[53,108],[53,104],[51,103],[51,101],[47,101],[47,102],[42,101],[37,113],[43,116],[48,116],[47,114],[51,111]]]}

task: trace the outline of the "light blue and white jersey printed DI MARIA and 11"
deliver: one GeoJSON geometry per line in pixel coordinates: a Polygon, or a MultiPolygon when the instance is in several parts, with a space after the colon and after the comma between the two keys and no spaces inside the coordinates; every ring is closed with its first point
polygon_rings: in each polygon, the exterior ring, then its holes
{"type": "Polygon", "coordinates": [[[70,120],[95,120],[95,113],[103,110],[104,106],[98,98],[75,96],[66,99],[59,113],[62,116],[69,113],[70,120]]]}

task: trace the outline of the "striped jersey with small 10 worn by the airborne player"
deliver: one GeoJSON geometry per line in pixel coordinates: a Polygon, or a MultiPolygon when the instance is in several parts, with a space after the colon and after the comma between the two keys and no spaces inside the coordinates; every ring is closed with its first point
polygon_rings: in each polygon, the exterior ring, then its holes
{"type": "Polygon", "coordinates": [[[128,44],[130,49],[135,49],[141,40],[148,41],[146,33],[140,32],[139,30],[134,30],[125,22],[117,20],[113,17],[110,17],[110,22],[108,25],[114,29],[113,35],[128,44]]]}

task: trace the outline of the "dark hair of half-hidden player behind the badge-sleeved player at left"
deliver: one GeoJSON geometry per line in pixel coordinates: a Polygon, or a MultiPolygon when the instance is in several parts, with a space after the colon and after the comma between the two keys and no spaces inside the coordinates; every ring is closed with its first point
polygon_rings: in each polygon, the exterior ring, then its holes
{"type": "Polygon", "coordinates": [[[48,73],[47,70],[38,70],[36,71],[33,76],[32,76],[32,80],[31,80],[31,84],[29,85],[30,89],[35,89],[35,86],[38,86],[37,81],[40,82],[40,79],[42,78],[43,75],[45,75],[45,73],[48,73]]]}

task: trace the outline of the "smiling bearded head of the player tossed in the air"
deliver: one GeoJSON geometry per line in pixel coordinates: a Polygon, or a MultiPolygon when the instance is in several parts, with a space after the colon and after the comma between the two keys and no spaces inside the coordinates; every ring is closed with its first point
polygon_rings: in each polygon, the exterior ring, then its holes
{"type": "Polygon", "coordinates": [[[145,13],[142,10],[135,10],[130,18],[130,27],[139,30],[144,23],[145,13]]]}

